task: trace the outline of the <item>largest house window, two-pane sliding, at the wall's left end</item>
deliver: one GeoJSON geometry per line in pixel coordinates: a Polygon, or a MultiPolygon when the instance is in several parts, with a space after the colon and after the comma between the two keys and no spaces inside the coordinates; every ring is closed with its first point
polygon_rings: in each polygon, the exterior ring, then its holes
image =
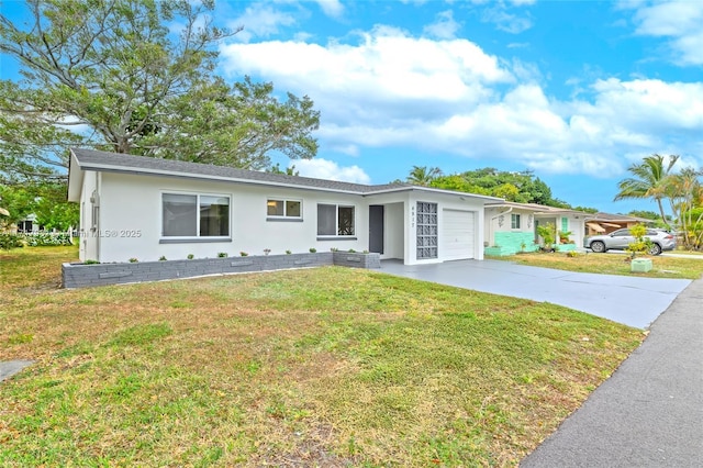
{"type": "Polygon", "coordinates": [[[164,193],[164,237],[223,237],[230,235],[230,197],[164,193]]]}

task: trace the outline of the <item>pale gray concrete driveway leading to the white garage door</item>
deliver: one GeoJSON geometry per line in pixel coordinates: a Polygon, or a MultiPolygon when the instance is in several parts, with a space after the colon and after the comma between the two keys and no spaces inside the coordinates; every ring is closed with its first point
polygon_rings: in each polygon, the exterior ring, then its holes
{"type": "Polygon", "coordinates": [[[688,279],[580,274],[502,260],[458,260],[405,266],[381,261],[381,271],[494,294],[551,302],[646,328],[691,283],[688,279]]]}

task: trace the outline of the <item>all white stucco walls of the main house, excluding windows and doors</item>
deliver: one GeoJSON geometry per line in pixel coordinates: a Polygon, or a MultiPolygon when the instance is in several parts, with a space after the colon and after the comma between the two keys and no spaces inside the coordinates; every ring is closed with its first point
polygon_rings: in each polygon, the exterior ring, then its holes
{"type": "Polygon", "coordinates": [[[438,192],[400,191],[373,196],[354,196],[319,192],[308,189],[261,187],[254,185],[204,181],[175,177],[125,175],[115,172],[96,174],[86,171],[81,194],[81,223],[85,231],[81,239],[81,259],[102,263],[181,259],[192,254],[196,258],[214,258],[219,253],[239,256],[271,254],[328,252],[369,248],[370,204],[384,207],[384,254],[382,258],[401,258],[406,264],[443,261],[443,246],[438,246],[438,258],[416,259],[416,230],[413,218],[417,201],[438,204],[439,239],[442,239],[443,210],[461,210],[473,213],[473,258],[483,258],[483,201],[471,196],[458,197],[438,192]],[[90,197],[99,191],[100,220],[97,232],[91,234],[92,209],[90,197]],[[161,194],[200,193],[230,197],[231,241],[165,243],[174,241],[161,236],[161,194]],[[268,199],[300,200],[302,222],[267,220],[268,199]],[[355,207],[355,236],[353,238],[320,238],[317,236],[317,203],[346,204],[355,207]]]}

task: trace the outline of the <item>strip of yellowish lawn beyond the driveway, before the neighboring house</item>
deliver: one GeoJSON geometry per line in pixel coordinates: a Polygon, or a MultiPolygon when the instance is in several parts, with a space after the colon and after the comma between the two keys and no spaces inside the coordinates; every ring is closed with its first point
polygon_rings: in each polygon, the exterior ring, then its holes
{"type": "Polygon", "coordinates": [[[656,256],[651,258],[652,269],[646,274],[631,272],[628,255],[618,254],[578,254],[569,257],[565,253],[532,253],[506,257],[491,257],[493,260],[515,261],[533,267],[556,268],[568,271],[594,272],[606,275],[635,275],[649,278],[699,279],[703,274],[703,259],[656,256]]]}

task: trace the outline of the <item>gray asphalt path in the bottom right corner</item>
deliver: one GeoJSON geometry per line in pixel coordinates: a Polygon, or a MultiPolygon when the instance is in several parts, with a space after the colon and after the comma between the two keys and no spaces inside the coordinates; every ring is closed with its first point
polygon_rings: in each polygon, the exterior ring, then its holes
{"type": "Polygon", "coordinates": [[[521,467],[703,466],[703,279],[521,467]]]}

